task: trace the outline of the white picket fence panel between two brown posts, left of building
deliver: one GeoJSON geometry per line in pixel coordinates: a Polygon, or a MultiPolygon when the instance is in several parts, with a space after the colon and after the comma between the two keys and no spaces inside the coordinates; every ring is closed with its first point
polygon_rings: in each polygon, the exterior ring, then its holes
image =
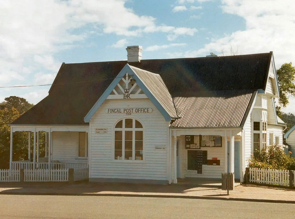
{"type": "Polygon", "coordinates": [[[24,169],[24,182],[68,182],[68,169],[24,169]]]}

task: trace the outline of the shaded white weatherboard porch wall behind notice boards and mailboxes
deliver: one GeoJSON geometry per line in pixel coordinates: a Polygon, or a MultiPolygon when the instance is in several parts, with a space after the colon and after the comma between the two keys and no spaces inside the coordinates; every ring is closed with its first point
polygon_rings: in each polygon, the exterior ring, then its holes
{"type": "MultiPolygon", "coordinates": [[[[208,133],[209,135],[210,133],[208,133]]],[[[181,178],[184,177],[199,177],[199,178],[221,178],[224,172],[224,137],[222,137],[222,147],[201,147],[201,151],[207,151],[207,159],[217,157],[220,160],[220,166],[203,165],[203,173],[197,174],[195,170],[187,170],[187,149],[185,149],[185,135],[179,137],[181,147],[181,178]]]]}

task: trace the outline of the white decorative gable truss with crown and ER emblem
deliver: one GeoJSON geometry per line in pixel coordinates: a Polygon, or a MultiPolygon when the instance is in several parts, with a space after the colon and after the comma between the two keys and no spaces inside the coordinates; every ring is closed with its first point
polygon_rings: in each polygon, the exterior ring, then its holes
{"type": "Polygon", "coordinates": [[[148,98],[132,75],[126,73],[106,99],[148,98]]]}

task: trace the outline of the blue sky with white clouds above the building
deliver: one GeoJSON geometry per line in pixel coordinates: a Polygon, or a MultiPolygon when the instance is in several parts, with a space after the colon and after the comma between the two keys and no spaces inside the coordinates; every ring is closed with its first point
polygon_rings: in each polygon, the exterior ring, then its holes
{"type": "MultiPolygon", "coordinates": [[[[268,53],[295,65],[291,0],[1,0],[0,86],[52,84],[63,62],[268,53]]],[[[0,88],[37,104],[50,86],[0,88]]],[[[295,114],[295,99],[283,109],[295,114]]]]}

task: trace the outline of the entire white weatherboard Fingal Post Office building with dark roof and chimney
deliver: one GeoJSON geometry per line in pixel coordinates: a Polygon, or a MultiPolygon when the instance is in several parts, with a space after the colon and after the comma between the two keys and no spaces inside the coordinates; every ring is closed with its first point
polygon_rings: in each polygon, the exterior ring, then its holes
{"type": "Polygon", "coordinates": [[[127,57],[63,63],[11,137],[46,131],[48,162],[88,164],[92,182],[157,184],[222,172],[243,182],[255,149],[283,144],[272,52],[141,60],[142,47],[130,46],[127,57]]]}

